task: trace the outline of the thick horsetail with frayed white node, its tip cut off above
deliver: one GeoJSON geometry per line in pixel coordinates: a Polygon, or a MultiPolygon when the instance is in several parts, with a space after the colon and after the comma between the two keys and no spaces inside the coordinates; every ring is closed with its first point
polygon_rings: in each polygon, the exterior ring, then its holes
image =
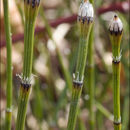
{"type": "Polygon", "coordinates": [[[40,0],[24,0],[24,63],[21,79],[16,130],[24,130],[26,110],[31,91],[34,27],[40,0]]]}

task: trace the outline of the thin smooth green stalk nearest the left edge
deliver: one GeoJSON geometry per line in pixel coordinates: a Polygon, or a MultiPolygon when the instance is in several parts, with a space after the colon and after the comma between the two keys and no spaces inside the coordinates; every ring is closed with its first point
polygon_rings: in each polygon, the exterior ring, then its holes
{"type": "Polygon", "coordinates": [[[7,86],[6,86],[6,119],[5,129],[11,130],[11,119],[12,119],[12,40],[9,20],[9,4],[8,0],[3,0],[4,7],[4,25],[6,34],[6,48],[7,48],[7,86]]]}

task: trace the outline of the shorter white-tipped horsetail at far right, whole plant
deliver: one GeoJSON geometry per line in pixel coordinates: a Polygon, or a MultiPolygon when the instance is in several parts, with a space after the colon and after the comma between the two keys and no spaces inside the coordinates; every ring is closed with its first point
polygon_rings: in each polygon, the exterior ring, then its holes
{"type": "Polygon", "coordinates": [[[109,25],[110,40],[112,43],[112,69],[114,88],[114,130],[121,130],[120,114],[120,67],[121,51],[120,44],[123,33],[123,24],[117,15],[111,20],[109,25]]]}

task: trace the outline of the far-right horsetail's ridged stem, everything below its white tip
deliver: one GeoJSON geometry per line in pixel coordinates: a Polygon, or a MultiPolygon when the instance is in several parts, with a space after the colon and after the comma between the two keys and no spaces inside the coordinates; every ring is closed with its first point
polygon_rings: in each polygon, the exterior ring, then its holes
{"type": "Polygon", "coordinates": [[[121,52],[120,44],[122,32],[111,33],[110,39],[112,43],[112,70],[113,70],[113,90],[114,90],[114,130],[121,130],[121,113],[120,113],[120,68],[121,68],[121,52]]]}

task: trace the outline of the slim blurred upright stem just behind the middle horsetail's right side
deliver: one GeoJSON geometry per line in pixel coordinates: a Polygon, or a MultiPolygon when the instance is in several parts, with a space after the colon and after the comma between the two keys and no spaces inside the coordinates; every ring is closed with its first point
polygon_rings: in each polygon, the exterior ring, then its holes
{"type": "MultiPolygon", "coordinates": [[[[93,28],[92,28],[93,29],[93,28]]],[[[94,130],[94,53],[93,47],[93,30],[91,30],[88,45],[88,69],[87,69],[87,86],[89,94],[89,123],[90,130],[94,130]]]]}

